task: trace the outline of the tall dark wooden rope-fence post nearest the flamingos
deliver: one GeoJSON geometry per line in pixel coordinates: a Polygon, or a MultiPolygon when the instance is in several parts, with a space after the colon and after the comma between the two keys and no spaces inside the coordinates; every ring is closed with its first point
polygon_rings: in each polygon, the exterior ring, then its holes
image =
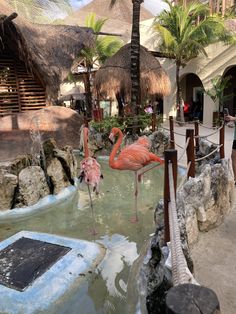
{"type": "Polygon", "coordinates": [[[167,149],[164,152],[165,155],[165,174],[164,174],[164,241],[170,241],[170,229],[169,229],[169,215],[168,206],[170,202],[170,186],[169,186],[169,171],[168,164],[171,162],[173,166],[173,178],[174,178],[174,189],[176,194],[177,186],[177,150],[167,149]]]}

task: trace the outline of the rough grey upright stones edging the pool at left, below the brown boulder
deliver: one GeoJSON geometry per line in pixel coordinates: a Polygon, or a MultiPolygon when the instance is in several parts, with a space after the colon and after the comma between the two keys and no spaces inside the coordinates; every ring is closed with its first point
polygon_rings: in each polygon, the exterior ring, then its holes
{"type": "Polygon", "coordinates": [[[77,161],[73,149],[59,149],[53,139],[42,143],[39,155],[22,155],[0,163],[0,211],[36,204],[74,184],[77,161]]]}

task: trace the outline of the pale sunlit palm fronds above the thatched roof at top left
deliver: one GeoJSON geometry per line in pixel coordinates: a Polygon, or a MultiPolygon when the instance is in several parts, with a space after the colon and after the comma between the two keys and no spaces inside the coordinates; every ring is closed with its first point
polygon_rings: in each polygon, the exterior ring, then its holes
{"type": "Polygon", "coordinates": [[[8,0],[17,13],[34,23],[50,23],[71,12],[70,0],[8,0]]]}

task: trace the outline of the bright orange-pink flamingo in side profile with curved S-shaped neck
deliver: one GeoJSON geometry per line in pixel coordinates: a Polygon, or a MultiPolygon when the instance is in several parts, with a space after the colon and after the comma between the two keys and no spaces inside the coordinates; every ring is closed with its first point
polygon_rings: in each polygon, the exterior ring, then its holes
{"type": "Polygon", "coordinates": [[[120,154],[115,159],[115,156],[120,148],[123,140],[123,134],[119,128],[112,128],[109,139],[114,142],[115,136],[118,134],[118,140],[115,143],[109,157],[109,166],[118,170],[132,170],[135,174],[135,217],[132,222],[138,221],[137,215],[137,196],[138,196],[138,177],[142,175],[138,170],[151,162],[159,162],[163,164],[164,161],[149,151],[150,142],[146,136],[140,137],[136,142],[124,147],[120,154]]]}

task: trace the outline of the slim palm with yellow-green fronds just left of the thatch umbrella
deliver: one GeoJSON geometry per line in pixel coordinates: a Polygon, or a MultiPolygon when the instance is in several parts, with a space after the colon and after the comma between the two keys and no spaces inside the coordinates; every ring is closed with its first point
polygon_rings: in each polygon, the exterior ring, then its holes
{"type": "MultiPolygon", "coordinates": [[[[95,42],[92,47],[81,50],[78,60],[82,57],[82,64],[85,68],[84,86],[87,103],[87,115],[92,114],[92,93],[91,93],[91,72],[95,65],[99,66],[121,48],[123,42],[114,36],[99,36],[101,29],[107,19],[96,19],[96,14],[91,13],[86,17],[86,26],[93,29],[95,42]]],[[[81,62],[80,62],[81,63],[81,62]]]]}

